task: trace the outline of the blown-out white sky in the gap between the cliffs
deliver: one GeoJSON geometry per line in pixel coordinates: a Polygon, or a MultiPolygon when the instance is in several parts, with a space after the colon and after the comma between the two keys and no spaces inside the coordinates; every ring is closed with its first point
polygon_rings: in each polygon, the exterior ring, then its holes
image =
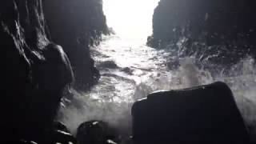
{"type": "Polygon", "coordinates": [[[159,0],[103,0],[108,26],[126,38],[146,38],[152,33],[152,16],[159,0]]]}

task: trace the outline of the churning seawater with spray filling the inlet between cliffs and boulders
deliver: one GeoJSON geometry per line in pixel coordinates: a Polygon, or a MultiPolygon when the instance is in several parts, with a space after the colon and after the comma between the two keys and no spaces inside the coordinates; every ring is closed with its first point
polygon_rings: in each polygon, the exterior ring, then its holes
{"type": "Polygon", "coordinates": [[[127,43],[133,45],[126,39],[109,36],[100,46],[92,49],[96,64],[110,60],[116,62],[118,67],[114,70],[101,67],[102,78],[90,92],[71,90],[74,98],[68,106],[61,107],[59,115],[62,117],[59,120],[66,123],[72,133],[75,134],[82,122],[102,120],[110,123],[121,134],[129,135],[132,124],[130,108],[134,101],[156,90],[177,90],[216,81],[226,82],[230,86],[250,131],[255,131],[254,58],[241,58],[226,67],[207,61],[214,58],[213,55],[207,56],[207,53],[175,56],[176,53],[185,52],[184,47],[176,51],[154,50],[137,43],[130,48],[127,43]],[[168,66],[170,58],[175,58],[176,68],[170,69],[168,66]],[[130,74],[123,71],[126,67],[129,67],[130,74]]]}

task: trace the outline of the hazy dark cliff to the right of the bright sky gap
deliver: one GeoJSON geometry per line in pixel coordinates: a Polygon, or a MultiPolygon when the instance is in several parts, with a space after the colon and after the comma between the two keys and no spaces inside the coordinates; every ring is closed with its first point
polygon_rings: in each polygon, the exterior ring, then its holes
{"type": "Polygon", "coordinates": [[[148,44],[158,47],[186,36],[203,39],[208,46],[232,42],[255,46],[255,6],[254,0],[161,0],[148,44]]]}

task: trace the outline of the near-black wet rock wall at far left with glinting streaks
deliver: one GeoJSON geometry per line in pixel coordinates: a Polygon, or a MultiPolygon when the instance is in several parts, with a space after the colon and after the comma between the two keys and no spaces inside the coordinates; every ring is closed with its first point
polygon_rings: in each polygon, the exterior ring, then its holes
{"type": "Polygon", "coordinates": [[[6,62],[0,141],[40,142],[53,122],[62,90],[73,80],[69,59],[47,37],[41,0],[3,0],[0,39],[6,62]]]}

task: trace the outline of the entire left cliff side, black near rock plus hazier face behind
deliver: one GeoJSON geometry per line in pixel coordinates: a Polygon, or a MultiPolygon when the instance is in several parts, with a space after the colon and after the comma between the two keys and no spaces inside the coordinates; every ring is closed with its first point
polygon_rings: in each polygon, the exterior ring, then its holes
{"type": "Polygon", "coordinates": [[[74,80],[72,69],[77,82],[86,86],[98,77],[88,46],[107,32],[105,21],[100,1],[1,2],[0,47],[6,62],[2,90],[6,93],[0,107],[5,133],[0,142],[49,140],[46,131],[63,90],[74,80]]]}

